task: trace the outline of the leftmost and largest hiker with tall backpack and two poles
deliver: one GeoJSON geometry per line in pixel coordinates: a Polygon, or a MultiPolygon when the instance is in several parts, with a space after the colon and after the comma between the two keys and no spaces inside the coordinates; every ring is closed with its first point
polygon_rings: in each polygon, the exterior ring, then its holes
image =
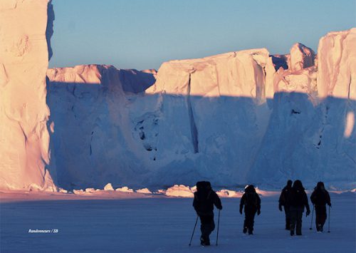
{"type": "Polygon", "coordinates": [[[211,189],[210,182],[197,182],[197,192],[194,192],[193,207],[201,221],[200,244],[210,245],[209,235],[215,229],[214,223],[214,205],[221,210],[221,200],[219,196],[211,189]]]}

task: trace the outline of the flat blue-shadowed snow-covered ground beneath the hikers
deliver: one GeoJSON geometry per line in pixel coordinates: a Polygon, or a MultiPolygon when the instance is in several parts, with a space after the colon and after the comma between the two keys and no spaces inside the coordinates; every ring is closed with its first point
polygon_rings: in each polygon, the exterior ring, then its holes
{"type": "MultiPolygon", "coordinates": [[[[4,200],[3,194],[1,252],[355,252],[356,249],[356,199],[352,192],[331,193],[330,233],[326,232],[328,221],[323,234],[315,232],[314,224],[310,231],[311,216],[304,216],[301,237],[290,237],[284,230],[278,195],[261,197],[261,215],[255,219],[253,236],[241,232],[244,217],[239,214],[240,199],[223,198],[219,246],[215,246],[215,230],[211,234],[214,245],[205,248],[199,246],[198,226],[192,246],[188,246],[196,219],[192,198],[120,194],[132,199],[83,200],[82,196],[82,200],[14,202],[4,200]],[[58,233],[28,233],[29,229],[58,229],[58,233]]],[[[217,221],[216,218],[217,215],[217,221]]]]}

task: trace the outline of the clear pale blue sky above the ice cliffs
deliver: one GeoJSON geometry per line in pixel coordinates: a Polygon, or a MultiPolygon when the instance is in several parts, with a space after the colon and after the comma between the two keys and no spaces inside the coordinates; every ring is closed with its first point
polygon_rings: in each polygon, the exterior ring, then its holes
{"type": "Polygon", "coordinates": [[[50,67],[164,61],[266,47],[313,48],[329,31],[356,26],[355,0],[53,0],[50,67]]]}

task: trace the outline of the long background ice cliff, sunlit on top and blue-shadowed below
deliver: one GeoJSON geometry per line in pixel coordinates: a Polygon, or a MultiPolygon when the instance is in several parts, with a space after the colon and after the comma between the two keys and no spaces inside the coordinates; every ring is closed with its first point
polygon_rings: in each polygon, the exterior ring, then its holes
{"type": "Polygon", "coordinates": [[[252,49],[169,61],[157,73],[48,70],[59,185],[273,188],[299,178],[354,187],[355,29],[336,33],[342,48],[330,34],[318,56],[296,43],[285,56],[252,49]],[[333,75],[337,86],[323,95],[333,75]]]}

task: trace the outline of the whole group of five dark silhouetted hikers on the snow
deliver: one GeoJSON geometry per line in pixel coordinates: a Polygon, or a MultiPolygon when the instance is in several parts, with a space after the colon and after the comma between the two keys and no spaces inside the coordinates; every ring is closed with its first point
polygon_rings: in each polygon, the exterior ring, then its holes
{"type": "MultiPolygon", "coordinates": [[[[325,190],[324,183],[318,182],[310,200],[315,207],[315,224],[318,232],[323,232],[323,226],[327,218],[326,207],[331,207],[330,195],[325,190]]],[[[212,190],[210,182],[197,182],[197,192],[194,192],[193,207],[201,221],[200,244],[203,246],[210,245],[209,235],[215,229],[214,223],[214,205],[218,210],[222,210],[219,196],[212,190]]],[[[293,236],[302,234],[302,216],[306,209],[306,216],[310,215],[308,197],[300,180],[288,180],[286,187],[283,188],[278,200],[278,208],[286,214],[286,229],[293,236]]],[[[253,185],[245,188],[244,195],[240,201],[240,214],[245,212],[244,228],[242,232],[253,234],[254,218],[261,214],[261,199],[258,196],[253,185]]]]}

